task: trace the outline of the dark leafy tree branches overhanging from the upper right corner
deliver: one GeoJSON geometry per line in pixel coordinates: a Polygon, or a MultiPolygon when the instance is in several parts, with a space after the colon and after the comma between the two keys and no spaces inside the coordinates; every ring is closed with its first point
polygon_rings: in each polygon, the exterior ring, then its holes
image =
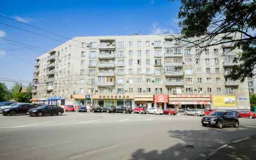
{"type": "MultiPolygon", "coordinates": [[[[169,0],[171,1],[171,0],[169,0]]],[[[256,75],[256,34],[250,34],[256,29],[255,0],[180,0],[178,13],[179,26],[182,36],[177,40],[197,46],[200,51],[196,58],[209,46],[224,44],[219,39],[234,36],[229,43],[234,48],[242,50],[234,59],[236,64],[228,77],[244,82],[247,77],[256,75]]],[[[230,45],[231,46],[231,45],[230,45]]],[[[224,54],[222,54],[224,56],[224,54]]]]}

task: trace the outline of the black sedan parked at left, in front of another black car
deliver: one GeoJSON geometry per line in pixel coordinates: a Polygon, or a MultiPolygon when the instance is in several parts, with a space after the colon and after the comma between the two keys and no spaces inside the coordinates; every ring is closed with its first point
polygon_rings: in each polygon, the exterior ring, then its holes
{"type": "Polygon", "coordinates": [[[42,116],[57,114],[60,116],[64,112],[64,109],[56,105],[43,105],[38,108],[28,110],[27,114],[30,116],[42,116]]]}

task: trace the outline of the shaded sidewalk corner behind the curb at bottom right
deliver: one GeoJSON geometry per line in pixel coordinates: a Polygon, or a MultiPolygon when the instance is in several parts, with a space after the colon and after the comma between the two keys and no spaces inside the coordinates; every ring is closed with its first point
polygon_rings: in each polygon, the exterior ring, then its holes
{"type": "Polygon", "coordinates": [[[256,138],[233,143],[219,150],[209,160],[255,160],[256,138]]]}

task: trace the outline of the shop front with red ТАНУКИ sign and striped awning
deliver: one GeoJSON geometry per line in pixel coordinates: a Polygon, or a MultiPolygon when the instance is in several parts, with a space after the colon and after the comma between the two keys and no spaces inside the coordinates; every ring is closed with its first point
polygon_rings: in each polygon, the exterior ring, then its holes
{"type": "Polygon", "coordinates": [[[180,109],[211,109],[211,94],[184,94],[169,95],[167,108],[175,108],[178,105],[180,109]]]}

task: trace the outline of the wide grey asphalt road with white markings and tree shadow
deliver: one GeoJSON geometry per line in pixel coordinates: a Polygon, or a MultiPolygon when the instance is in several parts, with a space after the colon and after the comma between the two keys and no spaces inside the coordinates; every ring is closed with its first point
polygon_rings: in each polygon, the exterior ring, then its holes
{"type": "Polygon", "coordinates": [[[239,128],[218,129],[184,115],[0,115],[0,159],[200,160],[223,144],[255,135],[256,119],[239,120],[239,128]]]}

